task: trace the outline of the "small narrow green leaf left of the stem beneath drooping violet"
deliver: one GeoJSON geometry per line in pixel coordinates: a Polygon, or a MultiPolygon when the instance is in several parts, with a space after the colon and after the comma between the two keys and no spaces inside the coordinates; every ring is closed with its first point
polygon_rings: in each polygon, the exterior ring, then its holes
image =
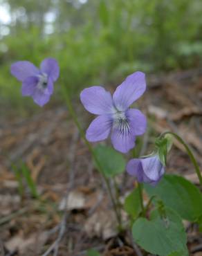
{"type": "Polygon", "coordinates": [[[134,219],[141,211],[141,203],[138,189],[133,190],[125,199],[125,211],[134,219]]]}

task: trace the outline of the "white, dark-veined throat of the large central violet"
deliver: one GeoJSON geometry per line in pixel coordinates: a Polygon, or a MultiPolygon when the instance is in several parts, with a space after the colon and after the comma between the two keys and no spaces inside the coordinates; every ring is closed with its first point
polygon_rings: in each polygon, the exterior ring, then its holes
{"type": "Polygon", "coordinates": [[[125,115],[125,111],[116,111],[113,114],[113,127],[120,131],[120,134],[129,134],[130,124],[125,115]]]}

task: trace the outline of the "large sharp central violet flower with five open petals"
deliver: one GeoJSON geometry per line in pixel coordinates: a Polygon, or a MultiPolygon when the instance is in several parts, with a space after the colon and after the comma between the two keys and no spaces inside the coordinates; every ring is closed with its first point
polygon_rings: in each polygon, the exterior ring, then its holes
{"type": "Polygon", "coordinates": [[[90,142],[105,140],[111,134],[113,147],[127,153],[135,146],[136,136],[145,133],[147,120],[138,109],[129,106],[145,92],[145,74],[136,72],[129,75],[111,97],[102,86],[84,89],[80,99],[85,109],[99,115],[86,131],[90,142]]]}

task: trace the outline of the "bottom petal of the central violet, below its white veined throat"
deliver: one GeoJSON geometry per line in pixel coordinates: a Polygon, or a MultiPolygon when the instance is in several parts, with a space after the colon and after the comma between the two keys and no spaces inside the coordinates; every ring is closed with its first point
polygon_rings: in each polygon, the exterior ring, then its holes
{"type": "Polygon", "coordinates": [[[113,147],[122,152],[127,153],[135,146],[135,136],[130,132],[120,132],[120,129],[113,127],[111,132],[111,143],[113,147]]]}

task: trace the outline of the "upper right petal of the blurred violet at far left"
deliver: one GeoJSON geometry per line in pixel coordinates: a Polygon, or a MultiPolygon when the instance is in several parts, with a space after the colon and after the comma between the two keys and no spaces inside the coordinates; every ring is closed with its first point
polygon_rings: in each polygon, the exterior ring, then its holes
{"type": "Polygon", "coordinates": [[[48,77],[51,77],[53,82],[55,82],[59,77],[59,65],[57,60],[53,58],[47,58],[43,60],[40,65],[40,69],[42,73],[46,73],[48,77]]]}

